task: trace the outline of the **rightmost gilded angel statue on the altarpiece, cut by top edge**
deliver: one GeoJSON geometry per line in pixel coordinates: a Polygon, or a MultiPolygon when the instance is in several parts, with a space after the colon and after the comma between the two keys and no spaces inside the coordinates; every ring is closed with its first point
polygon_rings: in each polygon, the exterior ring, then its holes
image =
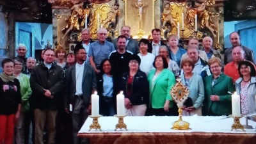
{"type": "Polygon", "coordinates": [[[214,26],[214,23],[211,20],[211,15],[209,10],[209,6],[215,4],[215,0],[196,0],[195,1],[195,8],[188,8],[187,11],[187,17],[188,17],[188,25],[191,26],[191,28],[195,28],[195,26],[192,26],[195,24],[195,14],[198,15],[198,19],[202,19],[200,22],[201,28],[207,28],[211,32],[211,34],[214,36],[214,38],[217,37],[216,33],[218,32],[216,30],[216,26],[214,26]]]}

